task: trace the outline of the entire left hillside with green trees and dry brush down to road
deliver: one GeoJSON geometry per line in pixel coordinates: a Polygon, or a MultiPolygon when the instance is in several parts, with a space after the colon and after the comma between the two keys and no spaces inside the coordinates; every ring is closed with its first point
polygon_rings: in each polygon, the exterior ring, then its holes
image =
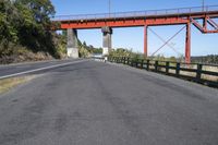
{"type": "Polygon", "coordinates": [[[49,31],[55,13],[50,0],[1,0],[0,63],[63,57],[62,36],[49,31]]]}

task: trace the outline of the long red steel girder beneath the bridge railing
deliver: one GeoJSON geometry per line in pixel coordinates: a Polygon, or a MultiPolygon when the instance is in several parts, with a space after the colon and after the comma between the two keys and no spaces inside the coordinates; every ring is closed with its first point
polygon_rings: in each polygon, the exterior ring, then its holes
{"type": "Polygon", "coordinates": [[[104,26],[109,27],[134,27],[134,26],[156,26],[156,25],[179,25],[186,24],[192,19],[204,19],[209,16],[211,19],[218,17],[218,11],[207,13],[192,13],[192,14],[171,14],[171,15],[158,15],[158,16],[135,16],[135,17],[109,17],[109,19],[93,19],[93,20],[64,20],[59,21],[60,27],[57,29],[65,28],[100,28],[104,26]]]}

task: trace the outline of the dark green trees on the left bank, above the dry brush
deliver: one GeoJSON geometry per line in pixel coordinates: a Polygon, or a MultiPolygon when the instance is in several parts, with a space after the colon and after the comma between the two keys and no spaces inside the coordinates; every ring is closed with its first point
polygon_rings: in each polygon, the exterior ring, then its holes
{"type": "Polygon", "coordinates": [[[19,47],[34,52],[57,55],[58,38],[49,31],[55,8],[50,0],[0,1],[0,57],[13,55],[19,47]],[[13,46],[12,46],[13,45],[13,46]]]}

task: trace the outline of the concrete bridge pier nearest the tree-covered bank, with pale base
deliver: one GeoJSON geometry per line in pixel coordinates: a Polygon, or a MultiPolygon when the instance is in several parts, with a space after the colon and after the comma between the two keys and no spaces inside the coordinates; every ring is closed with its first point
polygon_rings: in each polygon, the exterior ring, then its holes
{"type": "Polygon", "coordinates": [[[78,39],[76,29],[68,29],[68,57],[78,58],[78,39]]]}

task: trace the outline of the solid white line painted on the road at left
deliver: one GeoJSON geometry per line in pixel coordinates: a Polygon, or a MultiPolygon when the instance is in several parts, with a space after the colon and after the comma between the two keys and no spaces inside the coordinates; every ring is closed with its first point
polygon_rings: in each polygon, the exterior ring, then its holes
{"type": "Polygon", "coordinates": [[[62,64],[57,64],[57,65],[50,65],[50,67],[34,69],[34,70],[29,70],[29,71],[24,71],[24,72],[20,72],[20,73],[9,74],[9,75],[0,76],[0,80],[14,77],[14,76],[23,75],[23,74],[28,74],[28,73],[33,73],[33,72],[38,72],[38,71],[43,71],[43,70],[55,69],[55,68],[74,64],[74,63],[78,63],[78,62],[85,62],[85,61],[87,61],[87,60],[78,60],[78,61],[73,61],[73,62],[68,62],[68,63],[62,63],[62,64]]]}

